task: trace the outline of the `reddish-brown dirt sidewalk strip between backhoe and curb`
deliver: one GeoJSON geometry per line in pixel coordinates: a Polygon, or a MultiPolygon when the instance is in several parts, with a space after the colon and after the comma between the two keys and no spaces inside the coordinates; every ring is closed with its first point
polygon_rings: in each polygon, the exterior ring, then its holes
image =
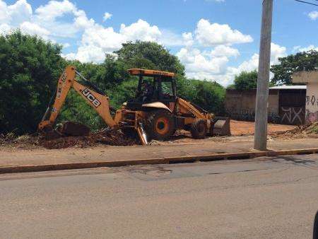
{"type": "MultiPolygon", "coordinates": [[[[1,167],[20,165],[54,165],[63,163],[137,161],[165,157],[204,156],[218,153],[242,153],[252,150],[252,136],[208,138],[191,143],[152,146],[98,146],[93,148],[33,149],[6,151],[1,149],[1,167]]],[[[318,139],[269,139],[270,150],[318,148],[318,139]]]]}

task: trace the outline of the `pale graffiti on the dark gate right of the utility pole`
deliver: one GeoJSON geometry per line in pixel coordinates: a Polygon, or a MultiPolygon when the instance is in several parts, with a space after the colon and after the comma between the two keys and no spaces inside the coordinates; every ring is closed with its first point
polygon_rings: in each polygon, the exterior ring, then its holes
{"type": "Polygon", "coordinates": [[[281,124],[302,124],[304,114],[303,107],[281,107],[281,124]]]}

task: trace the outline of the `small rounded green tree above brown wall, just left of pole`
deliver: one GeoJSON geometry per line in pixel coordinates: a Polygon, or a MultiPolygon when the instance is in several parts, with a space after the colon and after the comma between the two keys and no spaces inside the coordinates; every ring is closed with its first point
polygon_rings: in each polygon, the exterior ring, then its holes
{"type": "Polygon", "coordinates": [[[240,91],[257,88],[257,71],[242,71],[228,88],[240,91]]]}

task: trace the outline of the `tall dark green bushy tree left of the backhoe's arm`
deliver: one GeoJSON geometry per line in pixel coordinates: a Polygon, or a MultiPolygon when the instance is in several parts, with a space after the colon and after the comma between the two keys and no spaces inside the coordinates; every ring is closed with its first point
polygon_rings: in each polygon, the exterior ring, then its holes
{"type": "Polygon", "coordinates": [[[20,31],[0,36],[0,132],[35,132],[65,64],[60,53],[20,31]]]}

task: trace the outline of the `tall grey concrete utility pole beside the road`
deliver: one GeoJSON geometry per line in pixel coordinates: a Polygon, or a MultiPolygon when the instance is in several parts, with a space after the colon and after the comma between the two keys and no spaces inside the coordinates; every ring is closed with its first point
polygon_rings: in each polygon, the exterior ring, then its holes
{"type": "Polygon", "coordinates": [[[273,0],[263,0],[254,134],[254,149],[263,151],[267,148],[267,102],[269,99],[269,64],[271,60],[272,16],[273,0]]]}

